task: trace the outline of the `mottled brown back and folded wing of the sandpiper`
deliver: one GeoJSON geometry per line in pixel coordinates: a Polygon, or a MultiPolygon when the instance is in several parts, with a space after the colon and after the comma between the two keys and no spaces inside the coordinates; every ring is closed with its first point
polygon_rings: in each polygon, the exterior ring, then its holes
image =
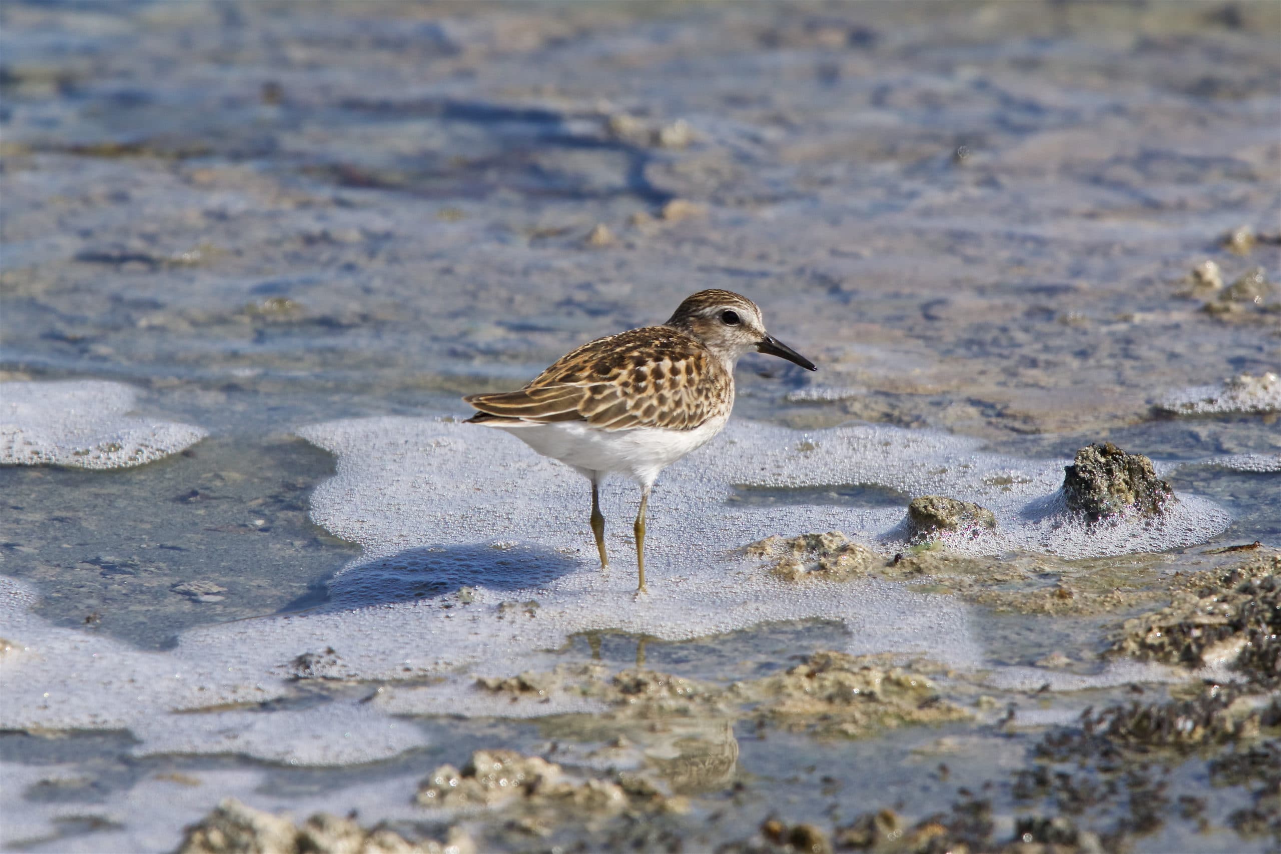
{"type": "Polygon", "coordinates": [[[471,394],[474,421],[587,421],[605,430],[692,430],[717,415],[733,379],[697,341],[646,326],[583,344],[519,392],[471,394]],[[489,416],[489,417],[484,417],[489,416]]]}

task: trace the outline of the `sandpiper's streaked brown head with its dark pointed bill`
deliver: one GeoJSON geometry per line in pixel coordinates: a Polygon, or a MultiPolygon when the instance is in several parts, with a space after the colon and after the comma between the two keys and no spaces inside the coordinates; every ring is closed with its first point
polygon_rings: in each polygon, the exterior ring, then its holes
{"type": "Polygon", "coordinates": [[[685,297],[666,325],[697,338],[730,366],[739,356],[755,350],[819,370],[808,359],[765,332],[761,310],[733,291],[699,291],[685,297]]]}

